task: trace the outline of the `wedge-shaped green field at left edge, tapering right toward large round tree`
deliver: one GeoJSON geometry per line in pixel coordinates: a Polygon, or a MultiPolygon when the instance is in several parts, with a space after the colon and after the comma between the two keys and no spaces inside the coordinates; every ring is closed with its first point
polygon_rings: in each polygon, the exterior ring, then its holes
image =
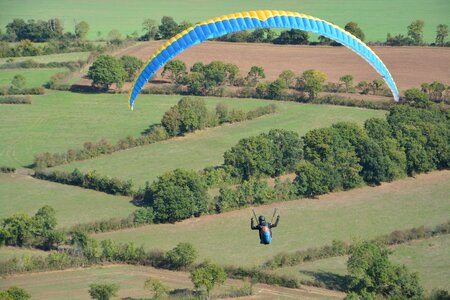
{"type": "Polygon", "coordinates": [[[0,218],[17,212],[34,215],[44,205],[50,205],[56,210],[58,227],[126,217],[136,209],[127,197],[107,195],[19,174],[0,174],[0,218]]]}

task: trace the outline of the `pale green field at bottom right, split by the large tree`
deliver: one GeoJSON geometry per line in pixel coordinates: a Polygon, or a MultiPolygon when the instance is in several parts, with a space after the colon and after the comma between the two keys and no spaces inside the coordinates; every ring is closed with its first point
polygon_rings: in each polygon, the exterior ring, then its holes
{"type": "MultiPolygon", "coordinates": [[[[440,236],[426,240],[414,241],[392,248],[390,256],[396,264],[405,265],[412,272],[418,272],[420,283],[431,291],[434,288],[450,289],[450,236],[440,236]]],[[[335,274],[328,278],[339,279],[347,274],[347,256],[321,259],[299,266],[287,267],[273,271],[276,274],[294,275],[299,279],[314,280],[325,274],[335,274]]],[[[322,277],[324,278],[324,277],[322,277]]]]}

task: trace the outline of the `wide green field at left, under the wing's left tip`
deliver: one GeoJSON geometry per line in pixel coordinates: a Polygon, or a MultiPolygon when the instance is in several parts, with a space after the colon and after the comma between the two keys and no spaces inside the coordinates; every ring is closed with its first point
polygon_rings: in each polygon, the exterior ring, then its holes
{"type": "Polygon", "coordinates": [[[40,152],[65,152],[84,142],[116,142],[137,136],[159,122],[181,96],[140,96],[139,109],[128,110],[127,95],[48,91],[32,105],[0,106],[0,165],[23,166],[40,152]],[[160,99],[158,101],[158,99],[160,99]]]}

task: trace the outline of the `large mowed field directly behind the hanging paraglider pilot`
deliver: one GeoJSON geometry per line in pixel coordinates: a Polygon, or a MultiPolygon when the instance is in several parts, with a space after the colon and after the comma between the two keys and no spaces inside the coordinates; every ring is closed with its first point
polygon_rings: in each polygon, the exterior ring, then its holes
{"type": "Polygon", "coordinates": [[[280,252],[331,244],[332,240],[371,239],[394,230],[421,225],[435,226],[449,219],[450,171],[433,172],[379,187],[333,193],[257,207],[257,214],[271,216],[279,208],[281,220],[270,246],[259,244],[250,230],[250,209],[203,216],[176,224],[103,233],[98,240],[134,242],[146,249],[169,250],[190,242],[199,261],[253,266],[280,252]]]}

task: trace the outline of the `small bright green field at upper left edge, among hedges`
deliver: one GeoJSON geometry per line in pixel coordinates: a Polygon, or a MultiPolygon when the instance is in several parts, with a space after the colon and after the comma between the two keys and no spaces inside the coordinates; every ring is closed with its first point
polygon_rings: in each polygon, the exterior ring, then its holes
{"type": "Polygon", "coordinates": [[[52,69],[3,69],[0,70],[0,87],[10,86],[14,76],[20,74],[25,77],[25,87],[40,87],[47,83],[49,78],[56,73],[67,71],[66,68],[52,69]]]}

